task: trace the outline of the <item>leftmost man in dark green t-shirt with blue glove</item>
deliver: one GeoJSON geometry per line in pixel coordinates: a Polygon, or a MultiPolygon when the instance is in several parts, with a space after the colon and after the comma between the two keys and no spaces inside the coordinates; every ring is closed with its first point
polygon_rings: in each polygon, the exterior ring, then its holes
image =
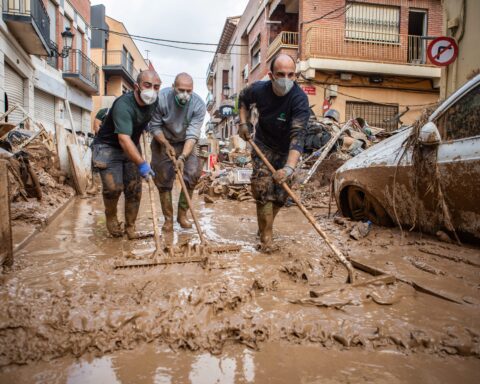
{"type": "Polygon", "coordinates": [[[142,196],[141,177],[148,178],[154,173],[140,152],[140,137],[155,110],[160,84],[155,71],[141,72],[135,90],[115,100],[93,144],[93,163],[102,178],[107,229],[114,237],[123,235],[117,219],[122,192],[125,232],[129,239],[144,236],[135,231],[142,196]]]}

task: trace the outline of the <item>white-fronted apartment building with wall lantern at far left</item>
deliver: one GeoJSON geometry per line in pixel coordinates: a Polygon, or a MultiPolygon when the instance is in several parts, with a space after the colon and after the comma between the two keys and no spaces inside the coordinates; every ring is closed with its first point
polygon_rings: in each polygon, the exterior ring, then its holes
{"type": "MultiPolygon", "coordinates": [[[[3,110],[18,104],[44,127],[90,130],[98,67],[90,60],[90,1],[8,0],[0,21],[0,98],[3,110]],[[67,34],[66,34],[67,32],[67,34]],[[66,40],[68,47],[64,46],[66,40]]],[[[20,110],[8,122],[24,120],[20,110]]]]}

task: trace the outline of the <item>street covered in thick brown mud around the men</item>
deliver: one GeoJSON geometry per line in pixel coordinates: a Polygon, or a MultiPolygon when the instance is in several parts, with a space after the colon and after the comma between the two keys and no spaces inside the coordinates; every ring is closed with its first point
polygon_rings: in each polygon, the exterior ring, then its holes
{"type": "MultiPolygon", "coordinates": [[[[355,269],[352,286],[296,207],[266,255],[253,203],[194,200],[208,240],[240,252],[115,270],[153,240],[109,237],[100,196],[38,234],[2,275],[0,382],[478,382],[478,248],[377,226],[356,241],[353,223],[317,208],[357,266],[393,276],[355,269]]],[[[147,199],[137,226],[151,229],[147,199]]]]}

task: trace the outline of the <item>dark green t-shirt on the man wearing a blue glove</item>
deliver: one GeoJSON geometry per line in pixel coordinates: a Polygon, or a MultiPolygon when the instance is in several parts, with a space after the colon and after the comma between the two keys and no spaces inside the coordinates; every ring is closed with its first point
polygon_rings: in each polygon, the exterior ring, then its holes
{"type": "Polygon", "coordinates": [[[118,97],[98,131],[98,141],[121,148],[118,134],[129,135],[135,145],[147,127],[155,110],[155,103],[141,107],[135,100],[133,92],[118,97]]]}

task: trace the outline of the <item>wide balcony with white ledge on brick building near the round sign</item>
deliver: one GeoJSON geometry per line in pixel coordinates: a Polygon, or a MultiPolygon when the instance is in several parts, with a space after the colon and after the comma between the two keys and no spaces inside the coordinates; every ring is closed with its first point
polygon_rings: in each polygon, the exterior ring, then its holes
{"type": "Polygon", "coordinates": [[[313,27],[306,33],[304,56],[322,59],[317,62],[327,70],[440,77],[440,70],[428,61],[426,49],[421,36],[313,27]]]}

